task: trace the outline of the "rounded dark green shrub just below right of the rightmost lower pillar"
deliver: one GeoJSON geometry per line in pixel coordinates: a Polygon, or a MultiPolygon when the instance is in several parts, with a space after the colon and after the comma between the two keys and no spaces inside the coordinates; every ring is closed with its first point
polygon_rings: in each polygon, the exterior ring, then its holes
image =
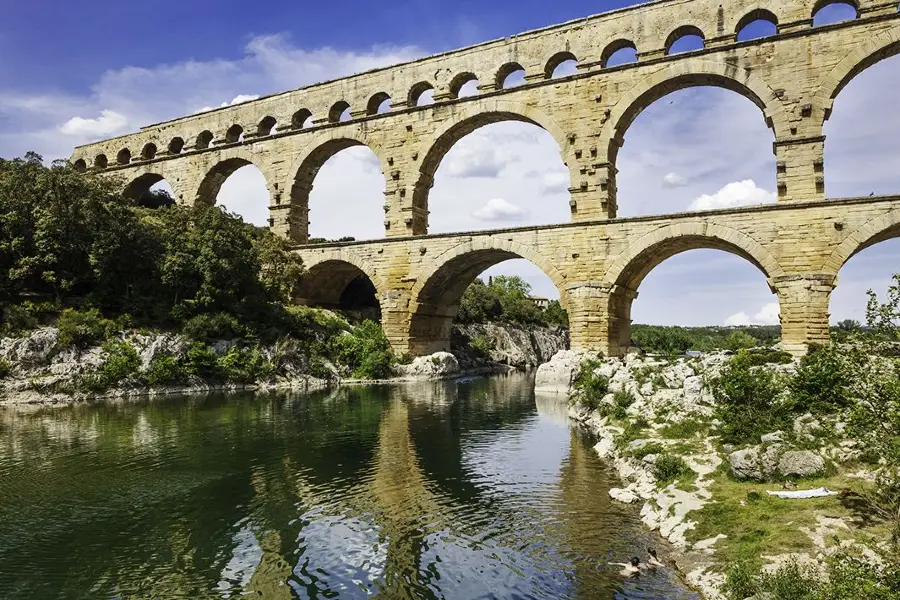
{"type": "Polygon", "coordinates": [[[790,381],[792,408],[815,414],[849,406],[851,376],[836,346],[810,348],[790,381]]]}

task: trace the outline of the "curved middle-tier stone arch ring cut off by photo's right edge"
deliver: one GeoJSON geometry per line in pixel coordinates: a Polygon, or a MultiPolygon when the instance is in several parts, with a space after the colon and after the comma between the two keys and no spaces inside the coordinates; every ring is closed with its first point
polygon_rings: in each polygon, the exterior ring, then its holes
{"type": "Polygon", "coordinates": [[[872,65],[900,54],[900,25],[857,45],[825,76],[812,97],[814,117],[821,125],[831,116],[834,100],[854,77],[872,65]]]}

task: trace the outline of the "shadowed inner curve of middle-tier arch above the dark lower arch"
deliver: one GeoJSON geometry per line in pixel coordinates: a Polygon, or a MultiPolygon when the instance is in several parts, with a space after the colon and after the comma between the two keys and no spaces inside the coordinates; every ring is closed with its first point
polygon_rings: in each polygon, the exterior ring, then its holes
{"type": "Polygon", "coordinates": [[[302,244],[309,241],[309,195],[319,171],[337,153],[360,146],[367,147],[378,159],[381,172],[385,176],[385,189],[387,189],[388,172],[385,170],[384,157],[379,148],[370,144],[365,136],[353,137],[326,132],[315,137],[297,157],[290,170],[293,174],[290,192],[293,227],[289,236],[292,241],[302,244]]]}

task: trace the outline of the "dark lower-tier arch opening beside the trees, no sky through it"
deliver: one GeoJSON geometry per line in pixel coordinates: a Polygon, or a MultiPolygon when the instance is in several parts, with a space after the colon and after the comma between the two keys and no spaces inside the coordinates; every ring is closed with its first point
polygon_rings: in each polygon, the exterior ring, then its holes
{"type": "Polygon", "coordinates": [[[311,266],[300,280],[295,301],[381,322],[381,304],[372,279],[358,266],[338,259],[311,266]]]}

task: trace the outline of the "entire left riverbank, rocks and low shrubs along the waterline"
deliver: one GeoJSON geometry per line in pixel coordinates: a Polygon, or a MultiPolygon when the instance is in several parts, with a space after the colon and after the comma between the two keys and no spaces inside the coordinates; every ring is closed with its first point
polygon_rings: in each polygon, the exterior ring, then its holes
{"type": "Polygon", "coordinates": [[[2,338],[0,404],[312,391],[342,384],[485,375],[536,367],[567,343],[567,331],[559,328],[468,325],[454,329],[453,353],[395,362],[374,324],[354,325],[329,311],[304,311],[308,336],[285,336],[270,344],[139,330],[72,343],[60,327],[2,338]]]}

